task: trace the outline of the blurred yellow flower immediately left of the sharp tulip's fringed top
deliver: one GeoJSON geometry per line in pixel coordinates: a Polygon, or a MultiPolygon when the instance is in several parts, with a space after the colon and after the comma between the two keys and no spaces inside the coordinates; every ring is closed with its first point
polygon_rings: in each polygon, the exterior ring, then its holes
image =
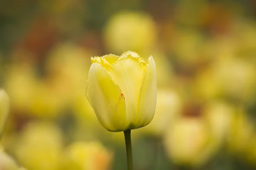
{"type": "Polygon", "coordinates": [[[59,43],[50,51],[46,60],[46,71],[52,83],[61,85],[57,91],[62,97],[72,98],[84,89],[90,57],[93,52],[72,43],[59,43]],[[72,83],[69,83],[72,81],[72,83]],[[60,84],[58,84],[60,82],[60,84]],[[69,95],[69,96],[67,96],[69,95]]]}

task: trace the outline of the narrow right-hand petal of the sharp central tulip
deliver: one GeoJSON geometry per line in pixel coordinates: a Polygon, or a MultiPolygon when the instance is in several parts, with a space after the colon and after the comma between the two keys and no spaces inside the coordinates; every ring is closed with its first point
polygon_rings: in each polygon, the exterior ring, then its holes
{"type": "Polygon", "coordinates": [[[140,89],[140,106],[136,128],[143,127],[154,117],[157,102],[157,76],[153,57],[148,58],[148,65],[140,89]]]}

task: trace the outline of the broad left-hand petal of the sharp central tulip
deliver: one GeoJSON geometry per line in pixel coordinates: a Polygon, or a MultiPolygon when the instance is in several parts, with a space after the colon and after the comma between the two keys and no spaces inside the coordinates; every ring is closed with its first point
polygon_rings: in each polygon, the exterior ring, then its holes
{"type": "Polygon", "coordinates": [[[86,96],[103,127],[109,131],[127,129],[125,99],[105,68],[98,63],[90,67],[86,96]]]}

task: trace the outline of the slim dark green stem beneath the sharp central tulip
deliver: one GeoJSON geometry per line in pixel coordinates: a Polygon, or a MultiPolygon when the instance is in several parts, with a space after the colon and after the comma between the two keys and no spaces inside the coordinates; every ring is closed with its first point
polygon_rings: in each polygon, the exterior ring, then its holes
{"type": "Polygon", "coordinates": [[[132,151],[131,151],[131,130],[125,130],[125,146],[128,170],[133,170],[132,151]]]}

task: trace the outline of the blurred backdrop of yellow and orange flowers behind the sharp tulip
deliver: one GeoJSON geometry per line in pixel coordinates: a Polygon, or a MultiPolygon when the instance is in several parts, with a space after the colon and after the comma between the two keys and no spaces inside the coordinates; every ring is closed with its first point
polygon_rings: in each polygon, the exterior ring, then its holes
{"type": "Polygon", "coordinates": [[[124,170],[123,133],[85,90],[90,57],[131,50],[154,57],[158,88],[135,170],[255,170],[255,19],[254,0],[1,0],[1,152],[27,170],[124,170]]]}

